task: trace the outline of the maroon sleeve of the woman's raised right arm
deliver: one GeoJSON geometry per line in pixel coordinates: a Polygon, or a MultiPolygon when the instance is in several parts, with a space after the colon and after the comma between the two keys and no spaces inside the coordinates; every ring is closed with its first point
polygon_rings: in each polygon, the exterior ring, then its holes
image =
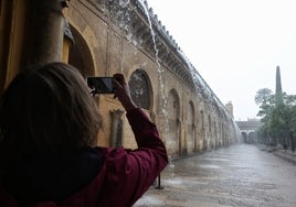
{"type": "Polygon", "coordinates": [[[106,200],[108,206],[131,206],[168,164],[166,146],[144,111],[133,109],[127,112],[127,118],[138,149],[127,152],[117,148],[108,154],[104,189],[114,195],[106,200]]]}

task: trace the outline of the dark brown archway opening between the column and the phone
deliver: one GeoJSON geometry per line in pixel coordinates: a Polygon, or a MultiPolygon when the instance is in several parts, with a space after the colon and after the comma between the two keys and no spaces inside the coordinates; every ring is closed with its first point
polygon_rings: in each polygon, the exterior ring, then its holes
{"type": "Polygon", "coordinates": [[[80,69],[83,77],[94,76],[95,67],[91,50],[82,34],[70,25],[74,43],[68,51],[68,64],[80,69]]]}

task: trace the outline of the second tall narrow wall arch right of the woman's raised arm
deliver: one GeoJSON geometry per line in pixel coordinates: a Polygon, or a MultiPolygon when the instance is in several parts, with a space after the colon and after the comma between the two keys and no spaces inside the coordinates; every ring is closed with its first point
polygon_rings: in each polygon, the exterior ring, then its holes
{"type": "Polygon", "coordinates": [[[192,153],[195,151],[195,122],[194,122],[194,105],[192,101],[188,103],[187,110],[187,148],[188,153],[192,153]]]}

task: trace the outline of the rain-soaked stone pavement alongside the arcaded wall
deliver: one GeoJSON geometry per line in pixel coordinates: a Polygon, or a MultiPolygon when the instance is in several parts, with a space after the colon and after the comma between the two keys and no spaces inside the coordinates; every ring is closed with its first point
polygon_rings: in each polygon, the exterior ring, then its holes
{"type": "Polygon", "coordinates": [[[296,165],[256,145],[170,163],[135,207],[296,207],[296,165]]]}

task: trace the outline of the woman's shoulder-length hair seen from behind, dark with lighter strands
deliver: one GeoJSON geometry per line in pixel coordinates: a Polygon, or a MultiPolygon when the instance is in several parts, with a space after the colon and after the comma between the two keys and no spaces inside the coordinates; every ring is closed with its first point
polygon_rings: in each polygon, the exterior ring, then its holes
{"type": "Polygon", "coordinates": [[[55,154],[94,144],[102,116],[80,72],[51,63],[12,80],[1,97],[0,128],[6,159],[55,154]]]}

